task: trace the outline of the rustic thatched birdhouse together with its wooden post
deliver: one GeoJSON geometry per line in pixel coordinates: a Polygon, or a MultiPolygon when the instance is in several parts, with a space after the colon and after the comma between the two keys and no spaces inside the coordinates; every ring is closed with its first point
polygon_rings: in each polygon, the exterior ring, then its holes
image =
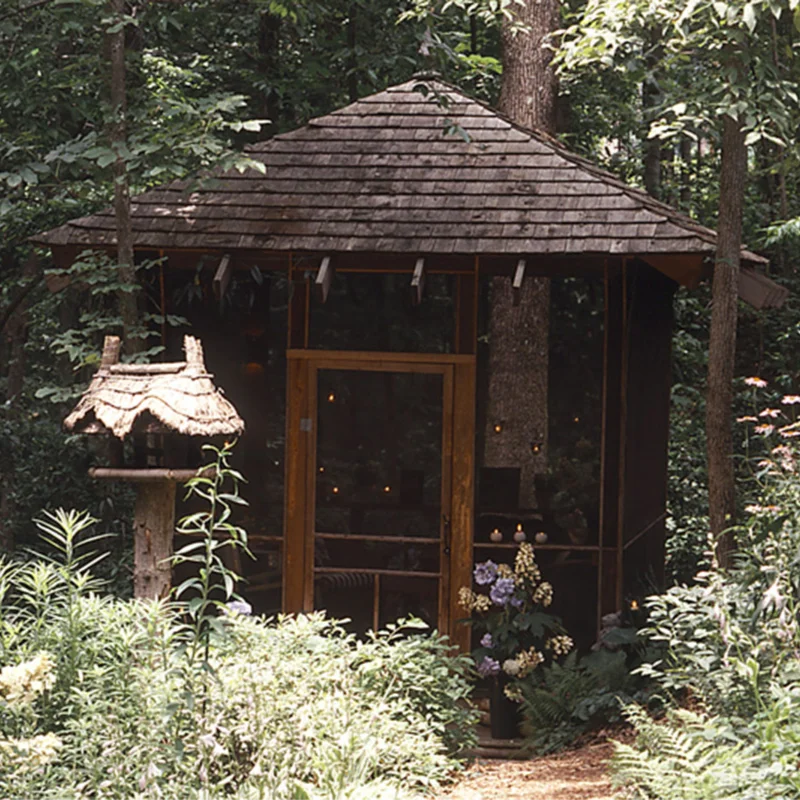
{"type": "Polygon", "coordinates": [[[100,369],[64,427],[110,437],[111,464],[89,473],[136,486],[134,595],[165,597],[171,584],[176,483],[197,474],[190,454],[199,452],[200,440],[238,436],[244,422],[206,371],[199,339],[186,336],[186,360],[175,363],[120,364],[119,351],[119,337],[107,336],[100,369]],[[126,463],[126,441],[133,444],[127,448],[132,463],[126,463]]]}

